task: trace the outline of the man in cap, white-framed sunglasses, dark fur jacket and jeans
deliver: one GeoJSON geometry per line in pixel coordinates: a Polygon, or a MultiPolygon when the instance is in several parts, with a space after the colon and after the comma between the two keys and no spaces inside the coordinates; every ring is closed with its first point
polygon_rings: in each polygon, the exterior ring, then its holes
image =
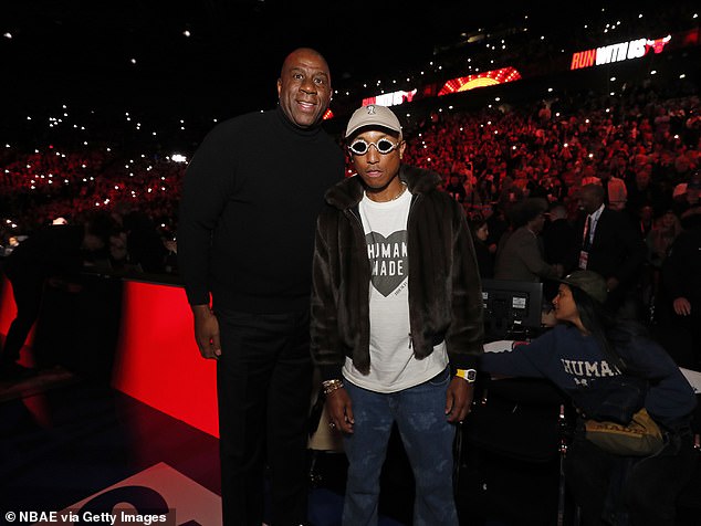
{"type": "Polygon", "coordinates": [[[343,524],[377,524],[379,475],[396,422],[416,480],[414,524],[457,525],[454,423],[482,353],[482,293],[460,204],[437,173],[401,165],[385,106],[346,129],[357,175],[326,192],[312,291],[312,355],[348,477],[343,524]]]}

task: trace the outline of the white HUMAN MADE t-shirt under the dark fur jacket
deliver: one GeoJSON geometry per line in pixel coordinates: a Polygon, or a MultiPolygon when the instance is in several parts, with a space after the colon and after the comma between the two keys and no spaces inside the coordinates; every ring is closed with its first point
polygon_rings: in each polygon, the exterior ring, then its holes
{"type": "MultiPolygon", "coordinates": [[[[407,220],[411,193],[375,202],[366,197],[359,204],[370,261],[370,371],[363,375],[346,358],[343,376],[358,387],[376,392],[395,392],[430,380],[448,365],[446,344],[418,360],[411,348],[409,326],[409,256],[407,220]]],[[[430,257],[430,254],[427,254],[430,257]]]]}

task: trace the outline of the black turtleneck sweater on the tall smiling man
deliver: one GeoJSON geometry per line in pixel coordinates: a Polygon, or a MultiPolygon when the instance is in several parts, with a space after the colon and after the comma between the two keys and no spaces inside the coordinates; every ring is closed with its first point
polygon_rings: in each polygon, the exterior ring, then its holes
{"type": "Polygon", "coordinates": [[[316,217],[344,176],[338,145],[278,107],[227,120],[190,161],[178,219],[188,302],[274,314],[308,308],[316,217]]]}

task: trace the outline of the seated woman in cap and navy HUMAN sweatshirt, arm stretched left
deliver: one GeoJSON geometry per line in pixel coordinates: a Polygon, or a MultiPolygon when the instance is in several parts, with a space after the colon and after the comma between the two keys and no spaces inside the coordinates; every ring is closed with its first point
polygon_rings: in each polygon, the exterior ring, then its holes
{"type": "MultiPolygon", "coordinates": [[[[693,389],[645,328],[605,311],[605,280],[577,271],[562,280],[553,299],[557,325],[510,353],[485,353],[482,369],[494,375],[552,380],[579,413],[566,456],[566,477],[582,524],[674,524],[674,501],[694,470],[693,389]],[[661,450],[647,456],[609,453],[588,441],[584,415],[597,418],[625,385],[642,390],[630,412],[645,407],[662,431],[661,450]]],[[[624,409],[624,408],[621,408],[624,409]]]]}

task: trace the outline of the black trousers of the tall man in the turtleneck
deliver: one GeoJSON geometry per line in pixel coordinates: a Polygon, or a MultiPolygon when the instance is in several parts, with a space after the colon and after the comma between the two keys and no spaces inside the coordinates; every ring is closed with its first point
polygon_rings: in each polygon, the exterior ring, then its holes
{"type": "Polygon", "coordinates": [[[217,312],[221,496],[224,526],[260,526],[265,469],[273,526],[307,519],[312,396],[308,312],[217,312]]]}

